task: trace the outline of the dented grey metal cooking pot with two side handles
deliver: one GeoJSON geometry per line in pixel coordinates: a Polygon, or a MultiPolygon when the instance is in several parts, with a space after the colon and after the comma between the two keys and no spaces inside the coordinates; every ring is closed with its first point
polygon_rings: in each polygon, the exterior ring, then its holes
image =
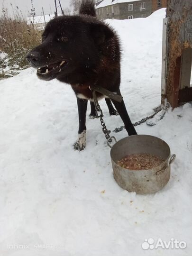
{"type": "Polygon", "coordinates": [[[174,162],[176,155],[171,155],[167,143],[150,135],[133,135],[125,137],[117,142],[115,137],[107,140],[110,146],[110,157],[113,167],[113,176],[119,186],[129,192],[137,194],[155,193],[162,189],[170,178],[170,165],[174,162]],[[109,141],[115,140],[111,146],[109,141]],[[117,164],[117,162],[131,154],[151,154],[164,159],[161,165],[148,170],[129,170],[117,164]]]}

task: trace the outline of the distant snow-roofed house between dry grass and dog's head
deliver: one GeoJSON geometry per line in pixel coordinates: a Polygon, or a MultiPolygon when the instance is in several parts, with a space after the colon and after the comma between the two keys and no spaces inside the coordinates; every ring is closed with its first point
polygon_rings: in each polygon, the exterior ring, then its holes
{"type": "MultiPolygon", "coordinates": [[[[62,16],[62,14],[58,13],[58,16],[62,16]]],[[[55,18],[54,14],[46,14],[45,15],[45,20],[46,23],[49,22],[49,20],[55,18]]],[[[45,28],[45,20],[44,16],[35,16],[34,19],[33,17],[27,17],[27,24],[28,25],[34,25],[36,29],[38,30],[43,30],[45,28]],[[33,22],[34,21],[34,22],[33,22]]]]}

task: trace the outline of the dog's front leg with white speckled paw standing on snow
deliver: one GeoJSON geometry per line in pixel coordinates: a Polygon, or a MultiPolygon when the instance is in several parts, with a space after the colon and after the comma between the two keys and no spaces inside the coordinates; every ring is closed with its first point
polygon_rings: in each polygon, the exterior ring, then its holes
{"type": "Polygon", "coordinates": [[[74,143],[74,150],[83,150],[86,146],[86,112],[87,112],[87,100],[77,98],[77,106],[79,112],[79,132],[78,139],[74,143]]]}

